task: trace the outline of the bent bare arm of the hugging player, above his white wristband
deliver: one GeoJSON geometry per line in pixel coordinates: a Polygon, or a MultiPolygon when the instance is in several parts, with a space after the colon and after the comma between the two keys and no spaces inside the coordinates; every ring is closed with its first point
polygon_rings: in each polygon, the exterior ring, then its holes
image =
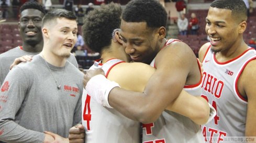
{"type": "Polygon", "coordinates": [[[113,88],[108,97],[110,105],[132,120],[142,123],[157,120],[181,93],[192,66],[197,65],[194,53],[187,45],[176,43],[174,46],[158,54],[155,59],[157,70],[143,93],[113,88]]]}

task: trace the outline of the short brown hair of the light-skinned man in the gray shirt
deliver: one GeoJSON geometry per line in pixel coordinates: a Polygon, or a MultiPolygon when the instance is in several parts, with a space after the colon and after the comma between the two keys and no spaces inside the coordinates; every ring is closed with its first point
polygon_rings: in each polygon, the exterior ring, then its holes
{"type": "Polygon", "coordinates": [[[42,19],[42,27],[45,23],[56,20],[57,18],[66,18],[70,20],[76,20],[76,16],[72,11],[65,9],[53,9],[47,12],[47,14],[42,19]]]}

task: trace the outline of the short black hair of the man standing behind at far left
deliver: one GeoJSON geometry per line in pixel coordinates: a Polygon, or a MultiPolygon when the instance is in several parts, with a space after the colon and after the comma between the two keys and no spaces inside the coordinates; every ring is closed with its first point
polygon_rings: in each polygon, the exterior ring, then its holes
{"type": "Polygon", "coordinates": [[[43,15],[46,14],[46,10],[43,8],[43,6],[40,3],[35,1],[28,1],[24,3],[19,9],[19,13],[21,13],[23,10],[26,10],[26,9],[37,9],[41,11],[43,15]]]}

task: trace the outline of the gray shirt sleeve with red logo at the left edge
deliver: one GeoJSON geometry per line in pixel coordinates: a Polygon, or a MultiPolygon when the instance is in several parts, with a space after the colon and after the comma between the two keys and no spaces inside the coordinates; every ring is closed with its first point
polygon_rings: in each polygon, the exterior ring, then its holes
{"type": "MultiPolygon", "coordinates": [[[[28,71],[26,71],[28,72],[28,71]]],[[[19,67],[6,76],[0,92],[0,140],[6,142],[42,142],[44,133],[20,126],[15,115],[23,110],[26,93],[30,87],[30,77],[19,67]]],[[[32,119],[34,120],[34,119],[32,119]]]]}

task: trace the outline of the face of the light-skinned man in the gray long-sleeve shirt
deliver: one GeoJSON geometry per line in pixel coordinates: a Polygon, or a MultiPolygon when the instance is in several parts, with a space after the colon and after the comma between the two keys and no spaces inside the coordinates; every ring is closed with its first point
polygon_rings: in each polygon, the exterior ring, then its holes
{"type": "Polygon", "coordinates": [[[48,48],[53,55],[69,57],[77,37],[77,23],[75,20],[57,18],[42,29],[48,48]]]}

